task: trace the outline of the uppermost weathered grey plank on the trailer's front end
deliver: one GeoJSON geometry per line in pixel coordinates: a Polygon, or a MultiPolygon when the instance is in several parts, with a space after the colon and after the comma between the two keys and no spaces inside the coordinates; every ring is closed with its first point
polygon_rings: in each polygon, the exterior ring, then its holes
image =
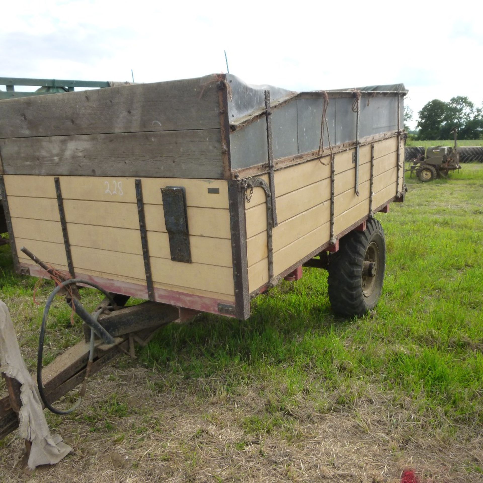
{"type": "Polygon", "coordinates": [[[212,129],[219,109],[214,75],[9,99],[0,104],[0,137],[212,129]]]}

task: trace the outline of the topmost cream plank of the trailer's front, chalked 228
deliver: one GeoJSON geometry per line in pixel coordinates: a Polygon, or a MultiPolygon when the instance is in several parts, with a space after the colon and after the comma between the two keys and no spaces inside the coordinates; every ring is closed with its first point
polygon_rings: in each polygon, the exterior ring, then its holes
{"type": "MultiPolygon", "coordinates": [[[[162,205],[161,188],[183,186],[186,189],[187,206],[228,208],[227,182],[224,180],[186,178],[141,178],[141,180],[144,204],[162,205]],[[219,193],[213,193],[213,188],[219,193]]],[[[9,196],[56,198],[53,177],[5,175],[5,186],[9,196]]],[[[60,186],[63,199],[136,203],[134,178],[60,176],[60,186]]]]}

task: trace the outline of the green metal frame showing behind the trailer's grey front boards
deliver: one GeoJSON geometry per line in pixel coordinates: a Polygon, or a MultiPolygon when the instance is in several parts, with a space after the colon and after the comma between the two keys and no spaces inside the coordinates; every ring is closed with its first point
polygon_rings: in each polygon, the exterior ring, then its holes
{"type": "Polygon", "coordinates": [[[0,99],[15,97],[42,96],[44,94],[57,94],[58,92],[72,92],[75,87],[109,87],[108,81],[73,81],[65,79],[26,79],[22,77],[0,77],[0,85],[5,85],[6,92],[0,91],[0,99]],[[33,85],[39,87],[52,87],[50,91],[26,92],[16,91],[15,85],[33,85]],[[59,90],[63,89],[63,90],[59,90]]]}

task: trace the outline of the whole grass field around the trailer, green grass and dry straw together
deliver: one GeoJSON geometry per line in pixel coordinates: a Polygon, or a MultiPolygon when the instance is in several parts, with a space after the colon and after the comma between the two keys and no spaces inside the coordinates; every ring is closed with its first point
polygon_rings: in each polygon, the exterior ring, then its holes
{"type": "MultiPolygon", "coordinates": [[[[483,481],[483,165],[407,184],[406,203],[377,215],[387,271],[375,311],[335,318],[326,272],[304,269],[245,322],[164,327],[137,362],[101,371],[75,414],[48,415],[74,448],[59,465],[26,474],[13,468],[22,441],[0,441],[2,481],[382,483],[405,467],[424,483],[483,481]]],[[[35,281],[0,250],[1,298],[32,367],[52,285],[37,307],[35,281]]],[[[58,302],[49,357],[80,335],[58,302]]]]}

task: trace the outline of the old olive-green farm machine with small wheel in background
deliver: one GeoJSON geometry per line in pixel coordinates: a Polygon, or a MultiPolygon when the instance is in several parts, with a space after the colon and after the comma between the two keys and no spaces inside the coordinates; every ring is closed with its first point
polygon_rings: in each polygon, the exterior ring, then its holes
{"type": "Polygon", "coordinates": [[[454,128],[455,146],[431,146],[426,149],[426,156],[420,154],[412,158],[409,171],[413,172],[420,181],[426,183],[441,176],[446,177],[450,171],[459,170],[459,152],[456,141],[457,129],[454,128]]]}

